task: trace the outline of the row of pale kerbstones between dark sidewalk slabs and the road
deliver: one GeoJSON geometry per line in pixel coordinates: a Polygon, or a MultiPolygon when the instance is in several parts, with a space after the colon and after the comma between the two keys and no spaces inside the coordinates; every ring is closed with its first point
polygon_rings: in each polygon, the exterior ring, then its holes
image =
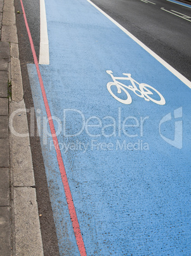
{"type": "Polygon", "coordinates": [[[23,100],[14,0],[4,0],[1,41],[10,43],[11,55],[9,143],[12,254],[43,255],[27,110],[23,100]]]}

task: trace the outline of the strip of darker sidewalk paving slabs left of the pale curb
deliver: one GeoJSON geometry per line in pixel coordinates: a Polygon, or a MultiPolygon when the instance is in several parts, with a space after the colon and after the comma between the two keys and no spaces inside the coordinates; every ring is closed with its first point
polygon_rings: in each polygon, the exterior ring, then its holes
{"type": "MultiPolygon", "coordinates": [[[[3,3],[4,0],[0,0],[0,27],[2,27],[3,3]]],[[[11,255],[10,161],[8,142],[9,65],[10,44],[0,41],[0,255],[11,255]]]]}

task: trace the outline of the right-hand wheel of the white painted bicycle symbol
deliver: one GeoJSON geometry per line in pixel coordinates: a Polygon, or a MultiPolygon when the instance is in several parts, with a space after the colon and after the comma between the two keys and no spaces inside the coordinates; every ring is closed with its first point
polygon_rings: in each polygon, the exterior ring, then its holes
{"type": "Polygon", "coordinates": [[[148,99],[156,104],[159,104],[159,105],[164,105],[166,103],[162,94],[160,92],[158,92],[156,89],[154,89],[154,87],[147,85],[147,83],[140,83],[139,88],[142,91],[142,93],[147,97],[146,99],[148,99]],[[154,95],[154,93],[152,91],[150,91],[149,89],[151,89],[156,94],[158,94],[160,99],[158,100],[158,99],[153,99],[152,97],[150,97],[150,95],[154,95]]]}

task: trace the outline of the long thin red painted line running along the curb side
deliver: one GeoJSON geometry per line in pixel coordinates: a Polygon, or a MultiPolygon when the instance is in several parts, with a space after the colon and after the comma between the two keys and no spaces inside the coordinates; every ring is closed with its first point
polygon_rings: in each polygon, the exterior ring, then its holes
{"type": "Polygon", "coordinates": [[[58,166],[59,166],[60,174],[61,174],[61,177],[62,177],[63,188],[65,190],[65,196],[66,196],[67,204],[68,204],[68,207],[69,207],[69,213],[70,213],[70,218],[72,220],[74,234],[76,236],[77,246],[79,248],[80,254],[82,256],[84,256],[84,255],[86,255],[86,248],[84,246],[84,241],[82,239],[82,234],[81,234],[81,230],[80,230],[80,227],[79,227],[79,222],[77,220],[76,209],[74,207],[72,194],[70,192],[69,181],[67,179],[67,174],[65,172],[65,167],[64,167],[62,155],[61,155],[61,152],[60,152],[60,146],[58,144],[58,138],[56,136],[55,126],[53,124],[53,119],[51,117],[51,112],[49,110],[48,99],[46,97],[46,92],[45,92],[45,89],[44,89],[43,79],[42,79],[41,72],[40,72],[40,69],[39,69],[39,63],[37,61],[36,52],[34,50],[34,44],[33,44],[33,41],[32,41],[32,36],[30,34],[30,29],[29,29],[29,25],[28,25],[28,22],[27,22],[27,17],[26,17],[26,14],[25,14],[25,9],[24,9],[22,0],[20,0],[20,3],[21,3],[21,6],[22,6],[22,10],[23,10],[23,17],[24,17],[24,20],[25,20],[26,29],[27,29],[27,32],[28,32],[28,35],[29,35],[30,46],[31,46],[32,55],[33,55],[33,58],[34,58],[34,64],[36,65],[37,75],[38,75],[39,83],[40,83],[40,86],[41,86],[41,92],[43,94],[44,106],[46,108],[46,114],[47,114],[47,117],[48,117],[51,136],[53,138],[53,143],[55,145],[56,156],[57,156],[57,160],[58,160],[58,166]]]}

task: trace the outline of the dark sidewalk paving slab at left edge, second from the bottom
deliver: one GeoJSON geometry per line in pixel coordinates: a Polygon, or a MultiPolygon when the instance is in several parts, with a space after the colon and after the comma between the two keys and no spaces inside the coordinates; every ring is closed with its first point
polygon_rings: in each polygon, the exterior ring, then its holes
{"type": "Polygon", "coordinates": [[[0,206],[10,206],[10,174],[8,168],[0,168],[0,206]]]}

